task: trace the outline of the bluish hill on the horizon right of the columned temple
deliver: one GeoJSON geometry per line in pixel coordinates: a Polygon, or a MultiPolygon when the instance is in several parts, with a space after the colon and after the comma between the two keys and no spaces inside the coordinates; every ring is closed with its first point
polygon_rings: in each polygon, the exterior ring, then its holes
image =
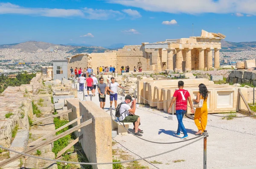
{"type": "Polygon", "coordinates": [[[256,41],[254,42],[229,42],[221,40],[221,51],[256,51],[256,41]]]}

